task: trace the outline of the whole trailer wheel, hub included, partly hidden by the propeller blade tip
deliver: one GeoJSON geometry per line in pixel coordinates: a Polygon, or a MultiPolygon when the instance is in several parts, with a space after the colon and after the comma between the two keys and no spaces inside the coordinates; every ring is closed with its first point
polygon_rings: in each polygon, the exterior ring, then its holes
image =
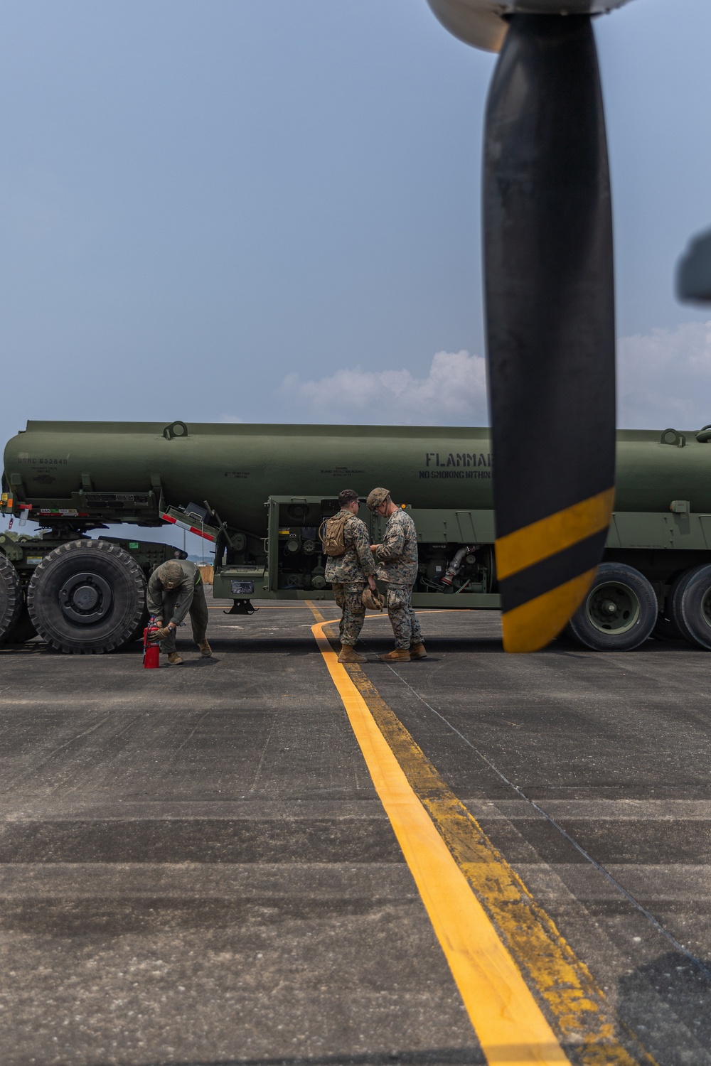
{"type": "Polygon", "coordinates": [[[593,651],[631,651],[651,635],[658,611],[643,574],[624,563],[602,563],[568,632],[593,651]]]}

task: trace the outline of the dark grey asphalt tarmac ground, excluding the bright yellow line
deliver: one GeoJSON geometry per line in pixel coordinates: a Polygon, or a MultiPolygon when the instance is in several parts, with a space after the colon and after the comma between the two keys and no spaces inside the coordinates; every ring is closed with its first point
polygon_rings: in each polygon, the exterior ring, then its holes
{"type": "MultiPolygon", "coordinates": [[[[311,610],[210,604],[213,658],[183,637],[182,666],[0,649],[3,1066],[495,1061],[311,610]]],[[[369,618],[343,684],[564,1055],[711,1066],[711,658],[505,656],[494,613],[422,621],[430,658],[390,667],[369,618]],[[599,1039],[559,1008],[576,981],[599,1039]]],[[[500,1062],[535,1061],[518,1022],[500,1062]]]]}

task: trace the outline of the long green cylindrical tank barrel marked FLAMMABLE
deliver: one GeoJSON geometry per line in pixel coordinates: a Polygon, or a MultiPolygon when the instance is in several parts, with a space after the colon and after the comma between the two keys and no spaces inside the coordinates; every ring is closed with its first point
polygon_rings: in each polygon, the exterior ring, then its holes
{"type": "MultiPolygon", "coordinates": [[[[619,431],[617,510],[666,511],[688,498],[711,511],[698,447],[707,434],[619,431]]],[[[160,508],[174,508],[169,516],[179,512],[177,520],[203,523],[212,537],[263,537],[271,496],[325,499],[344,485],[393,482],[416,508],[490,510],[492,477],[484,427],[28,422],[5,447],[3,510],[41,526],[91,528],[162,526],[160,508]]]]}

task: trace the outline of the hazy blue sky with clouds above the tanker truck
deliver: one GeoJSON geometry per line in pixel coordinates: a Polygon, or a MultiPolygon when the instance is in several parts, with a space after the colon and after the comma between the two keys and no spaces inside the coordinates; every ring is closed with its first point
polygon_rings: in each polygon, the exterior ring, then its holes
{"type": "MultiPolygon", "coordinates": [[[[711,3],[597,21],[620,424],[711,421],[711,3]]],[[[3,440],[28,418],[485,420],[495,56],[424,0],[0,0],[3,440]]]]}

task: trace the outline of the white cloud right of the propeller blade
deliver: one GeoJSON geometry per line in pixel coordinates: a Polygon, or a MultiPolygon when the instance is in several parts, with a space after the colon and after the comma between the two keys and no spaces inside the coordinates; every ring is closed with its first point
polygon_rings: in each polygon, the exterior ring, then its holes
{"type": "Polygon", "coordinates": [[[627,429],[700,429],[711,422],[711,322],[620,338],[617,421],[627,429]]]}

